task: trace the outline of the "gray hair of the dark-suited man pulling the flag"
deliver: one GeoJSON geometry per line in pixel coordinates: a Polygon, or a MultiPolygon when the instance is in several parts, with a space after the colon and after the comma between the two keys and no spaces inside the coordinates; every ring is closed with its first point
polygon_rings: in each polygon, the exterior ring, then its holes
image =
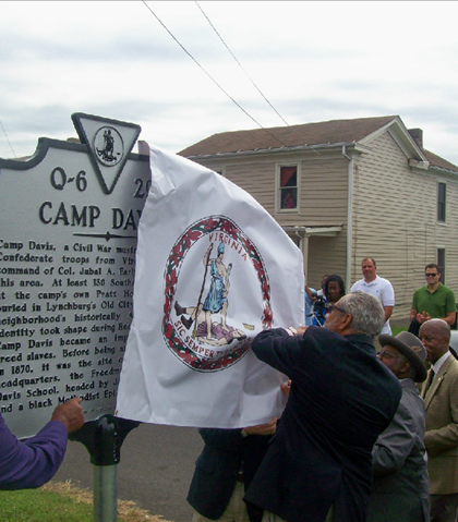
{"type": "Polygon", "coordinates": [[[352,315],[351,328],[374,339],[385,324],[385,311],[377,298],[364,292],[343,295],[337,303],[352,315]]]}

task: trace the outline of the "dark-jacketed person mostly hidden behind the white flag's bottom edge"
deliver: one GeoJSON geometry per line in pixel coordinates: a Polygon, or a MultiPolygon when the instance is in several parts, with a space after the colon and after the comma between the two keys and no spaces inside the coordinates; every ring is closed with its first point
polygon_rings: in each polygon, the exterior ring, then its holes
{"type": "Polygon", "coordinates": [[[243,501],[275,434],[277,420],[244,429],[201,428],[205,446],[195,463],[188,494],[193,522],[261,522],[262,512],[243,501]]]}

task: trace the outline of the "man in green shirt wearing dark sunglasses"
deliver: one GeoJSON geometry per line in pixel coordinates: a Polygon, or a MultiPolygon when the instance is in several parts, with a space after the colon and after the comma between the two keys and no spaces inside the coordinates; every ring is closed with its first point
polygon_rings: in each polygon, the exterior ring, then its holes
{"type": "Polygon", "coordinates": [[[448,325],[456,320],[456,302],[454,292],[442,284],[438,265],[430,263],[424,267],[426,286],[413,293],[410,320],[417,319],[422,325],[430,319],[443,319],[448,325]]]}

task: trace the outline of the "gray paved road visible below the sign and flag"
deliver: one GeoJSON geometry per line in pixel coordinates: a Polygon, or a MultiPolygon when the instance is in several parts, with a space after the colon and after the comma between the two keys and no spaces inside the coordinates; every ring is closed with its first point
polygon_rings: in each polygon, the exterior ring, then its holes
{"type": "MultiPolygon", "coordinates": [[[[192,509],[186,494],[202,448],[196,428],[142,424],[128,435],[121,448],[118,498],[133,500],[166,520],[190,522],[192,509]]],[[[71,479],[76,486],[92,489],[93,469],[86,448],[69,442],[55,479],[71,479]]]]}

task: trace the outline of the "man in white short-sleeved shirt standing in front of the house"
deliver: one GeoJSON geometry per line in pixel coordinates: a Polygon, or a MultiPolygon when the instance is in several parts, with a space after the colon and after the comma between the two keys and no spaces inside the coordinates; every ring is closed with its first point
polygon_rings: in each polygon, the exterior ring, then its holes
{"type": "Polygon", "coordinates": [[[372,257],[364,257],[361,262],[361,271],[364,276],[363,279],[357,281],[350,289],[350,292],[370,293],[377,298],[385,311],[385,324],[382,329],[383,335],[390,336],[391,327],[389,326],[389,317],[393,314],[395,307],[395,291],[388,279],[377,276],[377,265],[372,257]]]}

